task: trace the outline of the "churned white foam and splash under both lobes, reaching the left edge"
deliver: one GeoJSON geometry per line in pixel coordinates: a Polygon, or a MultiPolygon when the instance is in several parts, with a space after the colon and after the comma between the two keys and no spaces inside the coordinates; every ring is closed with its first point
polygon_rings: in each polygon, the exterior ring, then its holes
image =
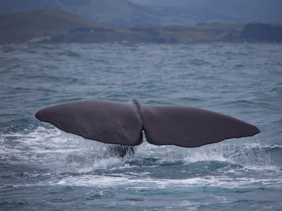
{"type": "MultiPolygon", "coordinates": [[[[198,148],[184,148],[171,145],[156,146],[144,143],[137,146],[135,156],[124,159],[103,159],[106,144],[83,139],[77,135],[61,132],[59,129],[37,127],[14,134],[0,134],[1,159],[9,162],[35,162],[41,160],[48,168],[56,166],[56,171],[89,172],[93,169],[125,169],[137,167],[128,164],[131,159],[154,158],[155,165],[182,161],[190,164],[196,161],[227,161],[241,164],[249,169],[264,171],[279,169],[264,153],[258,138],[230,139],[198,148]],[[17,144],[11,144],[14,137],[17,144]],[[5,147],[6,146],[6,147],[5,147]],[[12,161],[13,158],[18,160],[12,161]],[[19,161],[20,160],[20,161],[19,161]],[[48,166],[50,164],[50,166],[48,166]]],[[[269,147],[277,147],[269,146],[269,147]]],[[[268,148],[267,148],[268,149],[268,148]]],[[[153,164],[152,163],[152,164],[153,164]]]]}

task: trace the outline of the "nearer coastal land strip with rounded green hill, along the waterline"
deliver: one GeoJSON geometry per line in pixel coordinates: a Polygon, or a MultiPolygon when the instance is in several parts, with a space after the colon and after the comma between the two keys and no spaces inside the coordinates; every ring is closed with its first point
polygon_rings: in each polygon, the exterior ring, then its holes
{"type": "MultiPolygon", "coordinates": [[[[264,35],[262,41],[273,41],[269,38],[273,33],[276,35],[277,29],[280,30],[281,27],[278,25],[250,27],[252,25],[248,24],[248,27],[245,27],[246,24],[241,23],[213,23],[185,26],[109,26],[94,23],[73,13],[46,8],[0,15],[0,43],[241,42],[258,40],[256,39],[258,33],[264,35]]],[[[280,31],[277,36],[280,36],[280,31]]]]}

